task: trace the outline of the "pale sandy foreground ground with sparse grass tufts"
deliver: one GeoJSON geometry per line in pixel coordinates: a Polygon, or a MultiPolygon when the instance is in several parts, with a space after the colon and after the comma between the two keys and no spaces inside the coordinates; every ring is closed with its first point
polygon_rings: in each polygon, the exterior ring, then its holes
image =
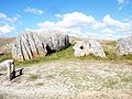
{"type": "Polygon", "coordinates": [[[24,67],[12,81],[0,74],[0,99],[132,99],[129,64],[57,61],[24,67]]]}

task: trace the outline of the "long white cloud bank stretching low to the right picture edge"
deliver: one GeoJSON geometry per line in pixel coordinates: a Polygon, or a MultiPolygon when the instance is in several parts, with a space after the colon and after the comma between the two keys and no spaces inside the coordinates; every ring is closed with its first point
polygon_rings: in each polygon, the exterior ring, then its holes
{"type": "Polygon", "coordinates": [[[132,34],[132,21],[119,21],[111,18],[110,14],[106,14],[102,21],[97,21],[94,16],[77,11],[55,16],[59,18],[59,21],[37,23],[38,30],[35,31],[62,31],[74,36],[88,35],[97,38],[117,38],[132,34]]]}

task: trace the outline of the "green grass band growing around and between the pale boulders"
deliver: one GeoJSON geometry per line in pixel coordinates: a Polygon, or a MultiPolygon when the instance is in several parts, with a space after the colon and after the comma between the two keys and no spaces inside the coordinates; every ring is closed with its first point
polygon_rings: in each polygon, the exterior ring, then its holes
{"type": "MultiPolygon", "coordinates": [[[[117,42],[116,41],[111,41],[111,42],[102,42],[101,45],[105,48],[106,58],[101,58],[99,56],[95,56],[92,54],[88,55],[88,56],[82,56],[82,57],[75,57],[74,56],[74,50],[73,50],[73,45],[70,45],[68,48],[59,51],[57,53],[53,53],[47,55],[46,57],[37,57],[34,58],[32,61],[26,61],[26,62],[15,62],[16,66],[28,66],[28,65],[32,65],[35,63],[43,63],[43,62],[51,62],[51,61],[72,61],[72,59],[77,59],[77,61],[110,61],[110,62],[132,62],[132,54],[128,54],[128,55],[123,55],[123,56],[119,56],[116,54],[116,45],[117,42]]],[[[6,53],[3,56],[0,56],[0,62],[11,58],[11,53],[6,53]]]]}

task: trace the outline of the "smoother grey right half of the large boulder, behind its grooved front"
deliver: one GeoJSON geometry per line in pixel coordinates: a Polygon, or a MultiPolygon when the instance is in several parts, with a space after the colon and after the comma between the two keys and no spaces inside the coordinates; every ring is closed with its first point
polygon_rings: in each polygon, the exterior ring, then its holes
{"type": "Polygon", "coordinates": [[[52,51],[61,51],[69,45],[69,37],[59,32],[37,33],[52,51]]]}

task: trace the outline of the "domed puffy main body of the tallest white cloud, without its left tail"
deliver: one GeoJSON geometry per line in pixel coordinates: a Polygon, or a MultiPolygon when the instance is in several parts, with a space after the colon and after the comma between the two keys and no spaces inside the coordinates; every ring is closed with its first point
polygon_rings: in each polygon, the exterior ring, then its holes
{"type": "Polygon", "coordinates": [[[62,19],[63,20],[57,22],[56,25],[63,28],[85,26],[87,24],[94,24],[96,22],[94,16],[77,11],[73,13],[63,14],[62,19]]]}

